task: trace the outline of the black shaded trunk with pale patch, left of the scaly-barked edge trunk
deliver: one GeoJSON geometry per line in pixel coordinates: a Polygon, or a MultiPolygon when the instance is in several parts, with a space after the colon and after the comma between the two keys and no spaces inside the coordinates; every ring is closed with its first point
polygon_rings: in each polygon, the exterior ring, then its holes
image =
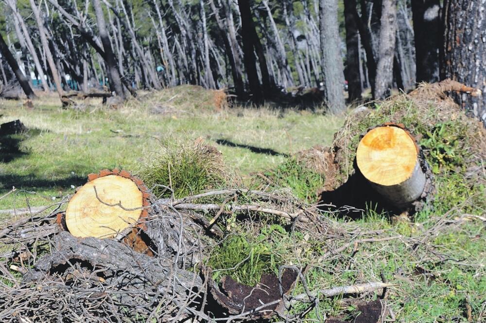
{"type": "Polygon", "coordinates": [[[412,0],[417,82],[439,81],[439,0],[412,0]]]}

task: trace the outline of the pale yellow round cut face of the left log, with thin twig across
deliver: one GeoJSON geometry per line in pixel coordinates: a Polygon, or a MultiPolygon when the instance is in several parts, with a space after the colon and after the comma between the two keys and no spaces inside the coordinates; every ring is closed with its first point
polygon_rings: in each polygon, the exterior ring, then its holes
{"type": "Polygon", "coordinates": [[[143,194],[131,178],[98,177],[69,201],[66,226],[75,237],[112,238],[139,220],[143,204],[143,194]]]}

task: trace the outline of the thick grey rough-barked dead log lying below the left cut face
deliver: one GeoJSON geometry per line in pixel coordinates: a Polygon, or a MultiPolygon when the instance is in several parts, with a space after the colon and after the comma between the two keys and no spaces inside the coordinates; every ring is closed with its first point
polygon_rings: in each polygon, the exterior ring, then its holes
{"type": "Polygon", "coordinates": [[[40,258],[22,281],[55,280],[54,275],[57,279],[66,279],[75,264],[80,263],[85,270],[97,271],[95,275],[104,278],[107,285],[113,284],[117,290],[167,289],[177,295],[186,295],[202,286],[198,275],[174,268],[172,259],[151,258],[110,239],[76,239],[68,232],[60,232],[52,242],[52,254],[40,258]]]}

